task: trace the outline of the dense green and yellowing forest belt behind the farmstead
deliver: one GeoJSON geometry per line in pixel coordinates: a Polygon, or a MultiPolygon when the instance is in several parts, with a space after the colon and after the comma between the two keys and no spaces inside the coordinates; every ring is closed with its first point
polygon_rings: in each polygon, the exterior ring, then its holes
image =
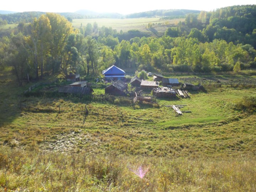
{"type": "Polygon", "coordinates": [[[159,38],[139,34],[97,23],[74,29],[63,16],[42,14],[0,39],[0,66],[12,66],[20,85],[50,73],[98,75],[114,63],[158,72],[256,67],[256,5],[187,14],[159,38]]]}

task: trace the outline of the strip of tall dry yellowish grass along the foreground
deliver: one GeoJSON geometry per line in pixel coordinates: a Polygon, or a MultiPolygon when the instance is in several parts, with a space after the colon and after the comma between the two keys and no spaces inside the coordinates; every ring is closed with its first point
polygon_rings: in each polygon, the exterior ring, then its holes
{"type": "Polygon", "coordinates": [[[6,191],[255,191],[256,160],[34,153],[2,148],[6,191]],[[144,178],[135,175],[148,168],[144,178]]]}

